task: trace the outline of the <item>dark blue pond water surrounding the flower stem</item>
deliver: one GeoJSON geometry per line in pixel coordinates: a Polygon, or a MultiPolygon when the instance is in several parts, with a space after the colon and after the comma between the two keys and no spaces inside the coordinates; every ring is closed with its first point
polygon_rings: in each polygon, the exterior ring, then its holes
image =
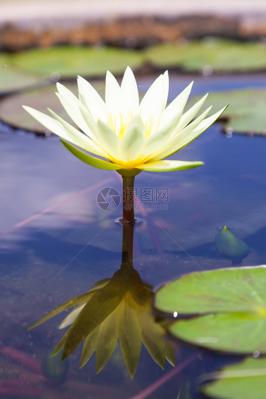
{"type": "MultiPolygon", "coordinates": [[[[192,79],[171,75],[169,101],[192,79]]],[[[194,80],[192,95],[266,87],[262,74],[194,80]]],[[[142,77],[138,85],[145,91],[152,81],[154,76],[142,77]]],[[[264,137],[227,137],[221,123],[217,123],[171,157],[203,161],[204,166],[136,176],[142,207],[136,211],[139,223],[134,232],[133,253],[134,268],[143,281],[157,287],[183,273],[230,266],[231,261],[222,258],[213,243],[219,227],[225,224],[250,247],[243,265],[265,263],[265,153],[264,137]],[[152,205],[155,209],[151,209],[152,205]]],[[[184,396],[180,398],[200,398],[203,396],[194,390],[197,376],[239,358],[202,350],[199,353],[197,348],[175,342],[177,365],[193,354],[196,357],[163,384],[161,378],[173,367],[166,362],[162,371],[144,346],[133,380],[119,344],[98,375],[95,356],[79,370],[79,347],[68,358],[69,385],[43,387],[25,369],[30,359],[42,361],[61,339],[63,333],[58,326],[66,313],[30,332],[26,329],[69,298],[87,292],[98,280],[112,277],[120,268],[122,227],[117,220],[122,216],[122,204],[104,211],[97,203],[97,195],[106,187],[121,195],[122,179],[115,171],[94,169],[79,161],[57,137],[36,137],[2,124],[0,184],[0,378],[24,381],[17,391],[0,382],[1,397],[19,394],[22,398],[65,398],[69,397],[67,390],[74,389],[76,395],[72,397],[79,398],[136,395],[136,399],[176,399],[183,387],[184,396]],[[9,356],[1,352],[6,347],[10,348],[9,356]],[[25,381],[30,378],[35,391],[27,390],[25,381]],[[158,389],[153,385],[156,381],[158,389]],[[147,396],[148,391],[142,391],[150,385],[154,391],[147,396]],[[140,392],[142,396],[138,395],[140,392]]]]}

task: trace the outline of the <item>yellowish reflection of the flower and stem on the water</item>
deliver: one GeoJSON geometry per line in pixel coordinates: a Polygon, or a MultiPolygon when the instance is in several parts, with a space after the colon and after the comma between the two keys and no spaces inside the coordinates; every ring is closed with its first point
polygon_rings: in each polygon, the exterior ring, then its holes
{"type": "Polygon", "coordinates": [[[63,350],[63,360],[85,340],[80,367],[96,352],[96,370],[99,373],[119,339],[131,378],[138,366],[142,343],[162,369],[165,359],[175,365],[173,347],[164,340],[164,328],[152,316],[152,287],[142,282],[133,268],[133,229],[132,223],[124,223],[122,263],[111,279],[100,280],[89,292],[68,300],[29,328],[76,306],[59,327],[65,328],[72,324],[55,347],[53,355],[63,350]]]}

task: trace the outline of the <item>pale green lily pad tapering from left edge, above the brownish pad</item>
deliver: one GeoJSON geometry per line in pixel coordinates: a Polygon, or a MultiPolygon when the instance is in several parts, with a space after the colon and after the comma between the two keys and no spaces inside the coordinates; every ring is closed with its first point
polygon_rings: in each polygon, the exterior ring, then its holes
{"type": "Polygon", "coordinates": [[[47,77],[28,73],[11,65],[10,55],[0,54],[0,95],[40,84],[47,77]]]}

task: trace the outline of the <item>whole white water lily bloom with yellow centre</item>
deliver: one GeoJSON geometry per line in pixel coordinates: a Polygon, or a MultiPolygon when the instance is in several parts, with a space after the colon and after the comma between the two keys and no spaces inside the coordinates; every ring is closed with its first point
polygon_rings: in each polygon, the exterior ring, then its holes
{"type": "Polygon", "coordinates": [[[154,81],[140,104],[136,79],[130,67],[126,68],[121,87],[107,71],[105,103],[88,81],[79,76],[77,83],[79,99],[60,83],[57,83],[56,94],[82,132],[49,108],[53,117],[31,107],[24,106],[24,109],[60,136],[63,144],[78,158],[96,168],[117,170],[126,177],[135,176],[141,170],[167,172],[202,165],[203,162],[162,159],[189,144],[226,109],[206,118],[209,107],[191,122],[207,97],[205,95],[183,113],[193,82],[166,107],[167,71],[154,81]],[[107,158],[109,162],[80,151],[70,143],[107,158]]]}

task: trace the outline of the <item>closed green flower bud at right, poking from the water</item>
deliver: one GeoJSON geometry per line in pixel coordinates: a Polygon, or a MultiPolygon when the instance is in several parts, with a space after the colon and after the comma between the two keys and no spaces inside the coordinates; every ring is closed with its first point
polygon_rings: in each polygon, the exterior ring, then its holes
{"type": "Polygon", "coordinates": [[[242,260],[249,254],[249,248],[239,237],[237,237],[227,226],[222,227],[214,240],[219,254],[232,261],[242,260]]]}

